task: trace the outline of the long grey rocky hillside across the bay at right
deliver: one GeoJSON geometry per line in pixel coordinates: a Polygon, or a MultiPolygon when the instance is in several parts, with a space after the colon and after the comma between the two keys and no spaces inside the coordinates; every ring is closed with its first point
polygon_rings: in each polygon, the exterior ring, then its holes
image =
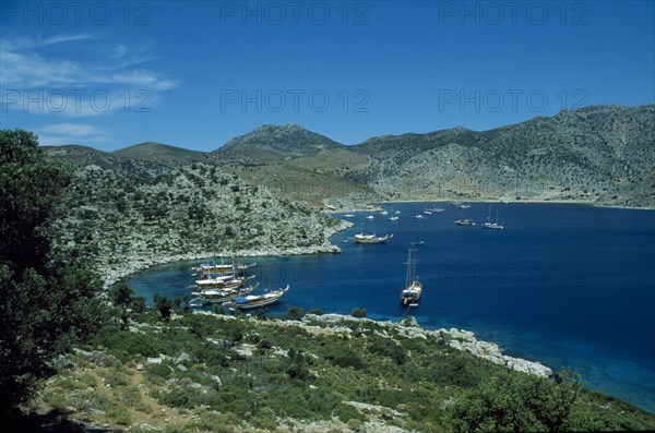
{"type": "Polygon", "coordinates": [[[490,131],[370,139],[345,175],[397,199],[579,200],[654,206],[655,106],[594,106],[490,131]]]}

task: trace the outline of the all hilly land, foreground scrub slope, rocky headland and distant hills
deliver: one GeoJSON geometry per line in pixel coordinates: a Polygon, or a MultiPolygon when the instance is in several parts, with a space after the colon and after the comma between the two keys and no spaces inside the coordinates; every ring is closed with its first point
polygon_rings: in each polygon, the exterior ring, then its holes
{"type": "Polygon", "coordinates": [[[212,153],[162,143],[111,153],[43,146],[46,166],[56,158],[74,167],[43,230],[56,256],[81,257],[99,277],[108,310],[84,345],[48,360],[51,372],[24,407],[36,420],[26,422],[57,417],[63,431],[117,432],[652,430],[652,414],[585,390],[574,373],[546,378],[549,369],[472,333],[378,323],[358,308],[348,317],[291,306],[281,320],[263,310],[198,313],[181,298],[148,306],[115,284],[178,260],[337,253],[331,237],[350,224],[326,206],[652,207],[654,127],[655,106],[598,106],[354,146],[297,124],[264,125],[212,153]]]}

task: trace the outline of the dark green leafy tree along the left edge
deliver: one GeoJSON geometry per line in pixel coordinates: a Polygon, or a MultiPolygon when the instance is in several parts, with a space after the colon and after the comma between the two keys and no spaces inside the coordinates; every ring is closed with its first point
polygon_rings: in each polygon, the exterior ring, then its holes
{"type": "Polygon", "coordinates": [[[53,356],[104,320],[83,251],[55,251],[48,236],[72,169],[37,146],[29,132],[0,130],[0,418],[31,398],[53,356]]]}

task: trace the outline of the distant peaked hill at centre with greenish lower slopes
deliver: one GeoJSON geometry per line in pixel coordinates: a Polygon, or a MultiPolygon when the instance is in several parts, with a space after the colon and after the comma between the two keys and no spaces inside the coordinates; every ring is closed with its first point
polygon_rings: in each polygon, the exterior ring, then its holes
{"type": "Polygon", "coordinates": [[[260,127],[212,154],[224,171],[310,207],[380,200],[370,187],[344,179],[367,167],[367,156],[296,123],[260,127]]]}

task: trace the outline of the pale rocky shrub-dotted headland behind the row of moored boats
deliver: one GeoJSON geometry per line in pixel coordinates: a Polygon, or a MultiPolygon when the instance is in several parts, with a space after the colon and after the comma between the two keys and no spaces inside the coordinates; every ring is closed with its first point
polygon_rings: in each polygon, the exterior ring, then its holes
{"type": "Polygon", "coordinates": [[[156,263],[211,255],[336,252],[343,221],[249,187],[215,166],[86,165],[58,211],[58,245],[86,245],[107,284],[156,263]]]}

